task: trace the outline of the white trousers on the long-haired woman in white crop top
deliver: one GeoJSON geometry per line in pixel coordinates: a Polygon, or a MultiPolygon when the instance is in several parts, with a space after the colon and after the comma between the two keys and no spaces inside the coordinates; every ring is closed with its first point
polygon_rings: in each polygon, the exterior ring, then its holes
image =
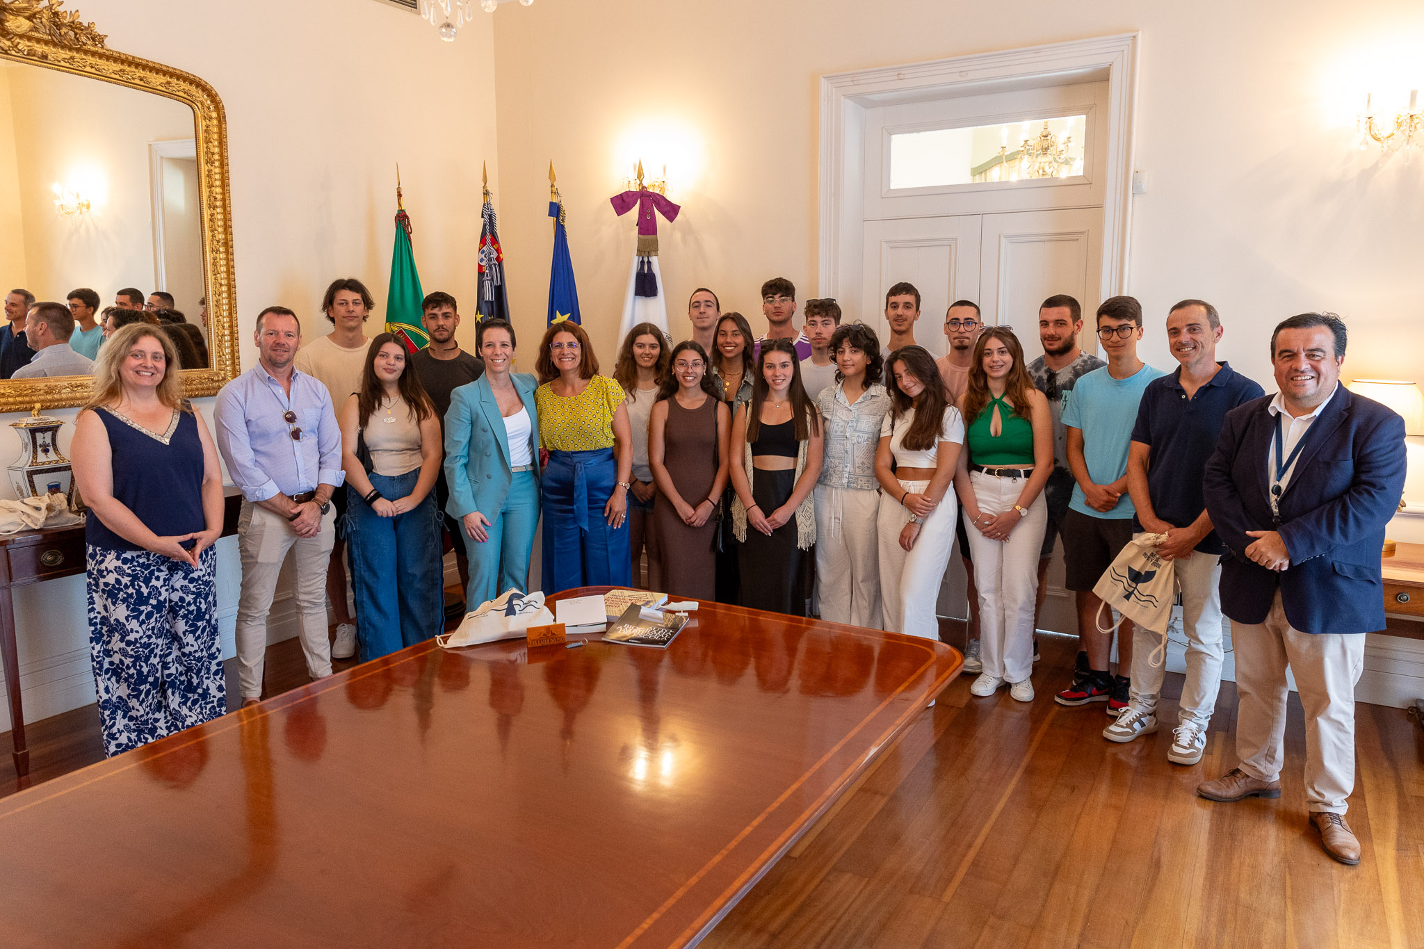
{"type": "MultiPolygon", "coordinates": [[[[924,494],[928,481],[901,481],[910,494],[924,494]]],[[[884,627],[924,639],[940,637],[940,583],[954,549],[954,524],[958,504],[954,491],[944,494],[938,507],[920,525],[914,549],[900,546],[900,531],[910,522],[910,511],[899,498],[880,495],[877,534],[880,535],[880,599],[884,627]]],[[[824,593],[822,593],[824,596],[824,593]]]]}

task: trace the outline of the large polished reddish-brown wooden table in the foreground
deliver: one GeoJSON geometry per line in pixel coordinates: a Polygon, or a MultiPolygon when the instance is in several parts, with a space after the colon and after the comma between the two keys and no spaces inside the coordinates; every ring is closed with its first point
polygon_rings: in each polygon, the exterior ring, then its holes
{"type": "Polygon", "coordinates": [[[961,666],[715,603],[588,639],[420,643],[0,801],[0,942],[695,945],[961,666]]]}

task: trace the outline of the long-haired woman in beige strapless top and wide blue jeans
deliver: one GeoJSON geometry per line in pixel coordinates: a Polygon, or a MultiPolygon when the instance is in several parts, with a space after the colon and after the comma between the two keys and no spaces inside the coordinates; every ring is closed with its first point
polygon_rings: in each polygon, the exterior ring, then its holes
{"type": "Polygon", "coordinates": [[[370,341],[340,427],[356,640],[360,662],[370,662],[430,639],[444,622],[434,495],[444,458],[440,418],[393,334],[370,341]],[[356,455],[360,440],[369,470],[356,455]]]}

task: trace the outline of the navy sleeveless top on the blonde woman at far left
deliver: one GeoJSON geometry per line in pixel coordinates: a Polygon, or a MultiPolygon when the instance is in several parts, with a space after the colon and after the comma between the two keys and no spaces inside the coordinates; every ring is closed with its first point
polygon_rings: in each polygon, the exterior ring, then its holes
{"type": "MultiPolygon", "coordinates": [[[[206,528],[202,515],[202,441],[194,414],[175,413],[178,418],[169,430],[155,434],[108,408],[97,408],[94,414],[108,431],[114,498],[158,536],[206,528]]],[[[110,551],[144,549],[110,531],[93,511],[85,518],[84,539],[110,551]]]]}

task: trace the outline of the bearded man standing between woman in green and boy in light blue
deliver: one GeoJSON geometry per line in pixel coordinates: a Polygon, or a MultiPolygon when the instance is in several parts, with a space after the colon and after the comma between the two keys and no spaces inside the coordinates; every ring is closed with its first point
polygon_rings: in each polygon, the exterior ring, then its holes
{"type": "MultiPolygon", "coordinates": [[[[1068,468],[1068,430],[1064,427],[1062,411],[1078,380],[1095,369],[1106,366],[1092,353],[1078,346],[1082,333],[1082,306],[1067,293],[1058,293],[1044,300],[1038,307],[1038,341],[1044,354],[1028,364],[1028,376],[1034,386],[1048,398],[1048,411],[1054,417],[1054,472],[1044,485],[1044,501],[1048,504],[1048,528],[1044,531],[1044,546],[1038,552],[1038,603],[1034,606],[1034,627],[1038,627],[1038,612],[1044,608],[1044,593],[1048,590],[1048,563],[1054,559],[1054,546],[1062,532],[1068,502],[1072,499],[1072,471],[1068,468]]],[[[1088,672],[1085,639],[1088,630],[1078,630],[1078,662],[1075,670],[1088,672]]],[[[1037,656],[1037,650],[1034,653],[1037,656]]]]}

